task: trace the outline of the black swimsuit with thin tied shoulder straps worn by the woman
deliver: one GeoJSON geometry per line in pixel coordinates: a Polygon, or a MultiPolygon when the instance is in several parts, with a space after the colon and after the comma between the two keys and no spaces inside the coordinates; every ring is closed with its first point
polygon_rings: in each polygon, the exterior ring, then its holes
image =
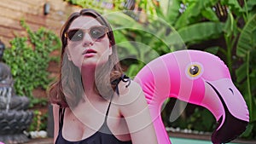
{"type": "MultiPolygon", "coordinates": [[[[119,81],[125,81],[125,76],[122,76],[122,78],[119,78],[119,81]]],[[[129,80],[130,81],[130,80],[129,80]]],[[[118,82],[119,83],[119,82],[118,82]]],[[[129,84],[128,84],[129,85],[129,84]]],[[[118,87],[116,88],[118,92],[118,87]]],[[[118,92],[119,94],[119,92],[118,92]]],[[[102,124],[102,127],[100,130],[96,131],[95,134],[90,135],[88,138],[85,138],[81,141],[67,141],[63,135],[62,135],[62,128],[63,128],[63,119],[64,119],[64,112],[65,108],[60,108],[59,110],[59,135],[55,141],[55,144],[132,144],[131,141],[119,141],[113,133],[109,130],[108,124],[107,124],[107,118],[108,118],[108,111],[109,107],[111,106],[111,101],[108,104],[108,110],[105,115],[104,123],[102,124]]]]}

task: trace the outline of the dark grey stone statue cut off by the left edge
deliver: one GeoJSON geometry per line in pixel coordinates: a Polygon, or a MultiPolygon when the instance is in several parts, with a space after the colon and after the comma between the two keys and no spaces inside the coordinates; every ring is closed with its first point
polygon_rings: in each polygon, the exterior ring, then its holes
{"type": "Polygon", "coordinates": [[[33,112],[27,110],[26,96],[15,95],[10,68],[3,63],[4,49],[0,41],[0,143],[24,143],[29,139],[23,131],[31,124],[33,112]]]}

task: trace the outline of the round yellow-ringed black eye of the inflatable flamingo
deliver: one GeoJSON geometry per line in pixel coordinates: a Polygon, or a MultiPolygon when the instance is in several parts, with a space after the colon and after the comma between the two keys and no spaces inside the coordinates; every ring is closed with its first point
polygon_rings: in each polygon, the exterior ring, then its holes
{"type": "Polygon", "coordinates": [[[202,72],[203,72],[203,69],[200,63],[193,63],[187,66],[186,74],[189,78],[192,78],[192,79],[199,78],[202,72]]]}

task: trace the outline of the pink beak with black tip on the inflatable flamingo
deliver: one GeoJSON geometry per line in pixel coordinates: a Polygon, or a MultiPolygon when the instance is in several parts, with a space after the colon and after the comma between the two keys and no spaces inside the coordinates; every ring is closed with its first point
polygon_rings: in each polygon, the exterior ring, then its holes
{"type": "Polygon", "coordinates": [[[213,105],[218,109],[215,114],[212,112],[218,120],[218,125],[212,133],[212,143],[227,143],[236,139],[247,128],[249,112],[246,102],[230,78],[207,82],[207,84],[221,102],[213,105]],[[220,109],[222,112],[219,111],[220,109]]]}

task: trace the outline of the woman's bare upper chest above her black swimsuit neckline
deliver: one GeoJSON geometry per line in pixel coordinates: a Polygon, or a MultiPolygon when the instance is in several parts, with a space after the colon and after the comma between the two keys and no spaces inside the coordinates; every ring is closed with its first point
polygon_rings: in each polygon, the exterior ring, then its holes
{"type": "Polygon", "coordinates": [[[111,106],[108,109],[108,106],[103,105],[102,107],[105,108],[84,107],[81,111],[67,112],[62,129],[63,137],[68,141],[84,140],[99,131],[104,123],[118,139],[122,140],[124,135],[129,135],[125,118],[120,116],[118,108],[111,106]]]}

